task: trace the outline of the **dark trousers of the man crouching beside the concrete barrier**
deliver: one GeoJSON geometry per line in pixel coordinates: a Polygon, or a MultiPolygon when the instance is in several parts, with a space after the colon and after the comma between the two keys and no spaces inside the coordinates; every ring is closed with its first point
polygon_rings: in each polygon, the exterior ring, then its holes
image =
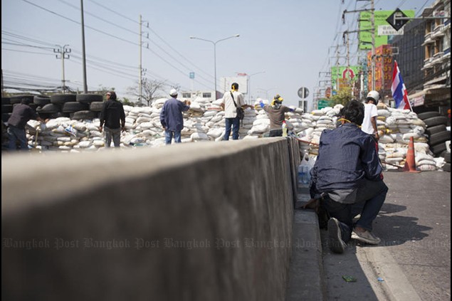
{"type": "Polygon", "coordinates": [[[354,204],[342,204],[325,197],[323,206],[330,217],[337,218],[340,222],[342,241],[347,243],[350,240],[353,226],[372,231],[372,222],[382,208],[387,192],[388,187],[384,181],[365,181],[357,191],[357,200],[354,204]],[[353,218],[359,213],[361,217],[353,225],[353,218]]]}

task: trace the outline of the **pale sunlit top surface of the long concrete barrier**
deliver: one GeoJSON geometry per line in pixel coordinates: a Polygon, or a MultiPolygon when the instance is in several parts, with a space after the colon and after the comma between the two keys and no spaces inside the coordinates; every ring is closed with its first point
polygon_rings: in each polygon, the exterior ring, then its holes
{"type": "Polygon", "coordinates": [[[170,147],[110,149],[103,152],[5,154],[1,157],[2,216],[33,201],[43,201],[89,186],[153,174],[162,169],[225,156],[283,138],[197,142],[170,147]],[[151,164],[147,164],[151,162],[151,164]],[[43,182],[51,183],[52,189],[43,182]]]}

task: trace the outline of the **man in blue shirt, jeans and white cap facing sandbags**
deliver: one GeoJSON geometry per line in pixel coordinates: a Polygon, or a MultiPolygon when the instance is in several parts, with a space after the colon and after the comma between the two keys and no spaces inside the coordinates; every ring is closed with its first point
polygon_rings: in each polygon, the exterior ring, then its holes
{"type": "Polygon", "coordinates": [[[171,89],[169,96],[171,98],[164,103],[160,112],[160,123],[165,130],[165,144],[171,144],[173,136],[175,143],[181,143],[181,131],[184,128],[182,112],[189,110],[191,102],[178,100],[176,89],[171,89]]]}

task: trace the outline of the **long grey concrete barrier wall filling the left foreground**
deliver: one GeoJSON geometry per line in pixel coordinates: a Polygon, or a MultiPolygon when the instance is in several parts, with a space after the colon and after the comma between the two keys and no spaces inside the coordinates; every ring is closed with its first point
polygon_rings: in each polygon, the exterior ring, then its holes
{"type": "Polygon", "coordinates": [[[267,138],[2,155],[1,295],[284,300],[296,154],[267,138]]]}

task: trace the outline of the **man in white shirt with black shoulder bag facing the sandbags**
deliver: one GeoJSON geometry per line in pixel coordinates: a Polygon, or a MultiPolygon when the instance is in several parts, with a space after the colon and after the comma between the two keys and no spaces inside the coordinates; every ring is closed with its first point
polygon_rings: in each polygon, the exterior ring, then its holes
{"type": "Polygon", "coordinates": [[[231,91],[224,93],[221,108],[224,110],[224,117],[226,118],[226,132],[224,132],[224,140],[229,139],[232,126],[232,139],[238,139],[238,127],[240,127],[240,119],[237,117],[237,107],[245,108],[245,100],[243,94],[238,92],[238,83],[232,83],[231,91]]]}

